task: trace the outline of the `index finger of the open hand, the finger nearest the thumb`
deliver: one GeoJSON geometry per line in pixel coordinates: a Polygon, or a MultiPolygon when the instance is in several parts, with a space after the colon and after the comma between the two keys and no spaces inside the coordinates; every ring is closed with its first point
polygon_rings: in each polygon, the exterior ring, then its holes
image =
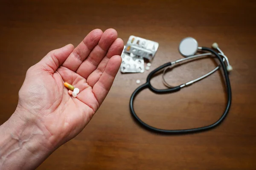
{"type": "Polygon", "coordinates": [[[95,29],[91,31],[70,54],[67,60],[63,63],[63,66],[72,71],[76,71],[84,59],[88,57],[93,48],[98,44],[101,37],[102,30],[95,29]]]}

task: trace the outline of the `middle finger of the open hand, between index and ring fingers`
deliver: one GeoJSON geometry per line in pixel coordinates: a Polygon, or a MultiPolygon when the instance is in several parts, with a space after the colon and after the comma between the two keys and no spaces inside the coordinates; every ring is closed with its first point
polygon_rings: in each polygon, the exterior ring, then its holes
{"type": "Polygon", "coordinates": [[[99,40],[99,44],[93,48],[93,51],[89,54],[87,59],[80,65],[77,74],[81,75],[85,79],[98,67],[101,60],[105,57],[111,44],[116,40],[116,30],[110,28],[107,29],[99,40]]]}

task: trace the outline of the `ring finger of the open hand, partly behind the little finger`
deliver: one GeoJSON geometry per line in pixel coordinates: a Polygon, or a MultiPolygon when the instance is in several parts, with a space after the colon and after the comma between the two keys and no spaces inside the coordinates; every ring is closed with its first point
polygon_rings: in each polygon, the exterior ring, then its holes
{"type": "Polygon", "coordinates": [[[99,63],[96,70],[94,70],[87,78],[87,83],[93,87],[95,83],[99,80],[102,73],[105,71],[106,65],[111,57],[114,55],[121,55],[122,50],[124,48],[124,42],[121,38],[117,38],[111,47],[108,50],[108,53],[106,56],[102,59],[102,61],[99,63]]]}

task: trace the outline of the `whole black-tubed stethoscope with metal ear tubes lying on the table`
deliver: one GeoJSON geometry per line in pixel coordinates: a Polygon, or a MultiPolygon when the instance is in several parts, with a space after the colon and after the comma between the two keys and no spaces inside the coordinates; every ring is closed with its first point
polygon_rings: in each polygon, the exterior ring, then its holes
{"type": "Polygon", "coordinates": [[[227,56],[223,53],[223,51],[221,51],[220,48],[218,48],[217,43],[213,43],[212,48],[214,48],[218,52],[216,52],[215,50],[212,50],[211,48],[198,47],[198,42],[192,37],[184,38],[180,42],[179,52],[182,56],[184,56],[186,58],[178,59],[173,62],[167,62],[167,63],[157,67],[153,71],[151,71],[151,73],[148,74],[145,84],[140,85],[131,95],[130,110],[131,110],[131,115],[134,117],[134,119],[136,119],[137,122],[139,122],[141,125],[143,125],[143,127],[147,128],[148,130],[151,130],[151,131],[154,131],[157,133],[168,133],[168,134],[196,133],[196,132],[201,132],[201,131],[205,131],[205,130],[210,130],[213,127],[220,125],[221,122],[227,116],[227,113],[228,113],[228,111],[230,109],[230,105],[231,105],[231,86],[230,86],[228,72],[232,71],[233,68],[229,63],[227,56]],[[202,52],[207,51],[207,53],[195,55],[199,51],[202,51],[202,52]],[[177,63],[183,62],[185,60],[195,59],[197,57],[207,57],[207,56],[208,57],[212,57],[212,56],[217,57],[220,62],[220,64],[216,68],[214,68],[212,71],[208,72],[207,74],[204,74],[203,76],[201,76],[197,79],[194,79],[192,81],[186,82],[186,83],[184,83],[182,85],[178,85],[178,86],[172,86],[166,82],[164,75],[165,75],[167,69],[173,68],[173,66],[175,66],[177,63]],[[226,62],[226,64],[225,64],[225,62],[226,62]],[[160,129],[160,128],[153,127],[151,125],[146,124],[135,113],[134,105],[133,105],[134,99],[135,99],[135,96],[137,96],[143,89],[149,88],[149,90],[151,90],[152,92],[154,92],[156,94],[173,93],[173,92],[179,91],[181,88],[184,88],[188,85],[192,85],[192,83],[198,82],[199,80],[204,79],[205,77],[208,77],[209,75],[211,75],[212,73],[217,71],[219,68],[223,68],[224,79],[226,82],[227,106],[226,106],[226,109],[224,110],[224,113],[220,117],[220,119],[218,119],[218,121],[213,123],[212,125],[208,125],[208,126],[204,126],[204,127],[197,127],[197,128],[192,128],[192,129],[166,130],[166,129],[160,129]],[[151,78],[153,78],[153,76],[160,71],[163,71],[162,80],[163,80],[163,84],[166,85],[166,87],[168,87],[167,89],[156,89],[150,83],[151,78]]]}

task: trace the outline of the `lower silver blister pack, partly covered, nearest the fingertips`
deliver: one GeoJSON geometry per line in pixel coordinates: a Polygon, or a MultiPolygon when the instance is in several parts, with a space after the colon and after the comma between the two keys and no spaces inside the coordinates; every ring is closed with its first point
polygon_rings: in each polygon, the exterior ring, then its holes
{"type": "Polygon", "coordinates": [[[129,54],[122,53],[122,64],[120,71],[122,73],[143,73],[144,59],[140,56],[131,57],[129,54]]]}

